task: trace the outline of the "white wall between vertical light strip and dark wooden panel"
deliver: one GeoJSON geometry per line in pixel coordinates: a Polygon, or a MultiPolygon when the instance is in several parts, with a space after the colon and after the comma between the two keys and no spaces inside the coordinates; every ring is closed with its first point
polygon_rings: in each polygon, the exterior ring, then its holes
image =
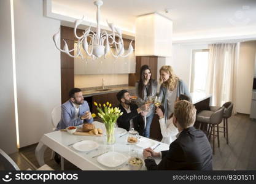
{"type": "Polygon", "coordinates": [[[20,147],[52,131],[51,111],[61,104],[60,52],[52,36],[60,21],[43,17],[42,0],[15,0],[20,147]]]}

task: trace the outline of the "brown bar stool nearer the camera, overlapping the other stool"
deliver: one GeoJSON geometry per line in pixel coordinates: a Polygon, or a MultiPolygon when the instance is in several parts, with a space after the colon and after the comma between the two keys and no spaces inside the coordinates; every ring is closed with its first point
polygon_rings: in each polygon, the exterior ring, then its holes
{"type": "Polygon", "coordinates": [[[207,123],[208,130],[206,135],[208,136],[209,141],[211,140],[211,136],[213,137],[212,143],[212,152],[215,153],[215,128],[217,127],[217,139],[218,139],[218,147],[220,147],[220,136],[219,136],[219,124],[222,122],[224,107],[220,107],[218,110],[202,110],[196,115],[196,121],[200,123],[200,128],[202,123],[207,123]]]}

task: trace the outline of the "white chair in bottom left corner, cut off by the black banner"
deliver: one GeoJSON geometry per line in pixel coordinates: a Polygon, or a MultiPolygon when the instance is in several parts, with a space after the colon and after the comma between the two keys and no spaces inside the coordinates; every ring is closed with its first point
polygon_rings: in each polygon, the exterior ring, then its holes
{"type": "MultiPolygon", "coordinates": [[[[1,148],[0,148],[0,161],[4,166],[5,171],[20,171],[20,168],[17,166],[17,164],[14,162],[12,158],[10,158],[9,155],[6,154],[1,148]]],[[[30,168],[27,170],[31,170],[30,168]]],[[[44,164],[44,166],[39,167],[36,169],[37,171],[53,171],[52,167],[48,166],[47,164],[44,164]]]]}

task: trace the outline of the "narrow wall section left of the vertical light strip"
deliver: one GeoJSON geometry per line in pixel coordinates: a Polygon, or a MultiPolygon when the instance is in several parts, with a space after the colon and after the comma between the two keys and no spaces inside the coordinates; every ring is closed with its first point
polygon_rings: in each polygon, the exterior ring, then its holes
{"type": "Polygon", "coordinates": [[[0,148],[10,154],[17,151],[10,1],[0,1],[0,25],[0,148]]]}

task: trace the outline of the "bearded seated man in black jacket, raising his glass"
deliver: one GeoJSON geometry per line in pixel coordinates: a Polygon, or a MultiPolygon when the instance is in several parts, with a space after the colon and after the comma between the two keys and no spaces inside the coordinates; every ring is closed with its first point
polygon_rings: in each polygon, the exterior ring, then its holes
{"type": "Polygon", "coordinates": [[[130,131],[134,128],[140,135],[144,132],[144,120],[141,115],[146,115],[149,104],[144,104],[138,108],[136,104],[131,103],[131,96],[127,90],[121,90],[117,93],[117,99],[120,102],[118,106],[123,115],[117,119],[117,125],[120,128],[130,131]]]}

